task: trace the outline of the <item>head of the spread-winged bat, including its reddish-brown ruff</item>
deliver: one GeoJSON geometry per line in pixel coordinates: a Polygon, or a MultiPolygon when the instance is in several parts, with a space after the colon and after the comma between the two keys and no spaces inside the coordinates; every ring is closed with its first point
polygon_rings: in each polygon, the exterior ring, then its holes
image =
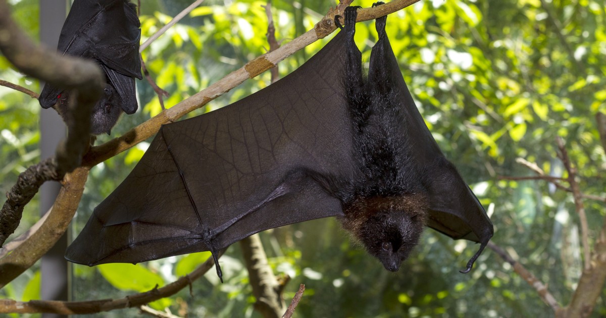
{"type": "Polygon", "coordinates": [[[426,196],[407,194],[361,200],[345,211],[343,224],[386,270],[398,271],[419,243],[426,219],[426,196]]]}

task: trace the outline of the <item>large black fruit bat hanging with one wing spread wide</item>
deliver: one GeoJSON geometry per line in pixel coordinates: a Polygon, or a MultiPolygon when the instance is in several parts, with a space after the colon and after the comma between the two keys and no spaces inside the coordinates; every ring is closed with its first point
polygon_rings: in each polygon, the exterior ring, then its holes
{"type": "Polygon", "coordinates": [[[162,125],[65,257],[93,266],[211,251],[216,263],[219,250],[251,234],[336,216],[390,271],[424,225],[479,242],[469,271],[493,226],[421,118],[385,19],[376,21],[367,79],[348,7],[344,29],[298,70],[162,125]]]}

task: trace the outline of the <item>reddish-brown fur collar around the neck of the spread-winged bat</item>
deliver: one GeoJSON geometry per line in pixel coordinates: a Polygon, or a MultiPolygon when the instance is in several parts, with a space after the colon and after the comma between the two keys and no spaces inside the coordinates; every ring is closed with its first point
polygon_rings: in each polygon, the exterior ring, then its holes
{"type": "Polygon", "coordinates": [[[358,236],[360,228],[371,216],[384,211],[401,211],[410,216],[419,216],[422,224],[427,221],[429,202],[425,193],[407,193],[390,197],[358,197],[344,206],[345,216],[341,224],[345,230],[358,236]]]}

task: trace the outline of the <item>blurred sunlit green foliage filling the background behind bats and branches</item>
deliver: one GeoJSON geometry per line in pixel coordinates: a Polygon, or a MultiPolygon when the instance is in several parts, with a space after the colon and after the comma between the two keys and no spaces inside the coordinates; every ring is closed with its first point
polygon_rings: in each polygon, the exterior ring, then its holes
{"type": "MultiPolygon", "coordinates": [[[[355,1],[369,7],[373,1],[355,1]]],[[[15,19],[38,37],[38,1],[13,0],[15,19]]],[[[188,0],[142,1],[142,39],[187,7],[188,0]]],[[[151,76],[170,93],[170,107],[268,48],[262,1],[207,0],[143,53],[151,76]]],[[[289,41],[309,30],[335,1],[273,1],[276,36],[289,41]]],[[[548,286],[565,305],[582,271],[578,216],[571,194],[544,181],[505,181],[499,176],[531,175],[517,157],[536,162],[553,176],[565,174],[554,139],[561,136],[579,168],[584,193],[604,196],[606,156],[594,114],[605,111],[606,5],[592,0],[421,1],[388,18],[388,36],[419,111],[446,157],[470,184],[493,220],[493,242],[548,286]]],[[[281,76],[301,65],[329,38],[279,64],[281,76]]],[[[374,25],[358,24],[356,42],[368,61],[374,25]]],[[[0,56],[0,79],[34,91],[37,81],[12,70],[0,56]]],[[[205,111],[237,101],[270,82],[269,72],[210,102],[205,111]]],[[[145,81],[137,81],[140,110],[112,130],[119,136],[161,111],[145,81]]],[[[39,161],[35,99],[0,87],[0,190],[39,161]]],[[[110,136],[99,136],[98,143],[110,136]]],[[[93,168],[73,222],[79,233],[93,208],[132,170],[142,143],[93,168]]],[[[36,199],[35,199],[36,200],[36,199]]],[[[27,205],[19,231],[38,219],[36,201],[27,205]]],[[[604,202],[585,200],[596,237],[604,202]]],[[[307,290],[302,317],[518,317],[553,316],[553,311],[510,265],[487,250],[470,274],[459,274],[476,246],[427,230],[416,253],[397,273],[388,273],[350,242],[335,220],[316,220],[263,233],[276,274],[293,277],[285,297],[299,283],[307,290]]],[[[593,240],[591,240],[593,243],[593,240]]],[[[124,297],[147,291],[193,270],[207,253],[169,257],[139,265],[73,266],[77,300],[124,297]]],[[[238,245],[221,258],[225,283],[214,271],[156,309],[195,317],[259,316],[253,311],[247,271],[238,245]]],[[[12,299],[37,299],[39,273],[31,268],[0,290],[12,299]]],[[[606,293],[593,316],[606,315],[606,293]]],[[[136,310],[114,311],[116,317],[136,310]]]]}

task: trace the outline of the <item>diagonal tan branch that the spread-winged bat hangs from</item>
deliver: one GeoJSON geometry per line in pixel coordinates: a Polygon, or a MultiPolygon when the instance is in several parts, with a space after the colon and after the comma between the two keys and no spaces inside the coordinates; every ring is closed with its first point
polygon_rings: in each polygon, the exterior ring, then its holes
{"type": "MultiPolygon", "coordinates": [[[[94,165],[103,162],[110,157],[115,156],[122,151],[128,150],[134,145],[141,141],[153,136],[157,133],[162,124],[168,124],[175,122],[190,111],[196,110],[213,99],[221,96],[225,92],[231,90],[244,82],[248,78],[254,78],[255,76],[263,73],[266,70],[274,67],[278,62],[292,55],[301,48],[317,41],[318,39],[324,38],[333,31],[336,26],[333,22],[335,15],[343,15],[343,10],[353,0],[341,1],[341,3],[335,8],[328,11],[327,15],[316,24],[313,30],[309,30],[304,35],[299,36],[288,44],[282,45],[270,53],[266,53],[258,58],[248,62],[244,67],[239,68],[236,71],[231,72],[229,75],[220,79],[215,84],[210,85],[202,91],[194,94],[190,98],[185,99],[179,104],[162,111],[158,115],[149,119],[148,121],[138,125],[137,127],[127,131],[124,135],[112,139],[105,144],[93,147],[82,160],[82,165],[85,167],[93,167],[94,165]]],[[[411,4],[418,2],[419,0],[394,0],[384,5],[379,5],[374,8],[363,8],[358,10],[358,19],[360,21],[368,21],[376,19],[384,15],[401,10],[402,8],[408,7],[411,4]]]]}

